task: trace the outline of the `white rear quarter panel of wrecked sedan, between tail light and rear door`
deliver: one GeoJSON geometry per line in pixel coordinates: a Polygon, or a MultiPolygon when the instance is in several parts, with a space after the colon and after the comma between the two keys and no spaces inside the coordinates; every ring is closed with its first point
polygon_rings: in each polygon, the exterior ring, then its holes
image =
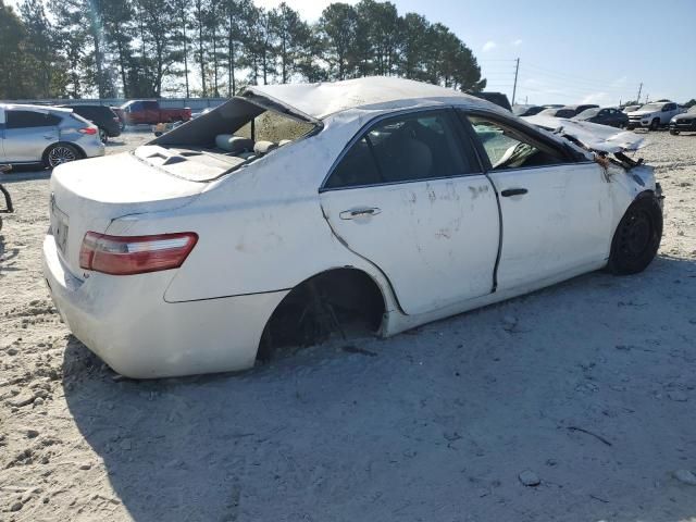
{"type": "Polygon", "coordinates": [[[191,231],[198,244],[165,294],[170,302],[293,288],[338,266],[380,272],[345,248],[325,221],[319,187],[359,125],[327,124],[318,136],[276,149],[212,183],[175,212],[114,221],[108,233],[191,231]]]}

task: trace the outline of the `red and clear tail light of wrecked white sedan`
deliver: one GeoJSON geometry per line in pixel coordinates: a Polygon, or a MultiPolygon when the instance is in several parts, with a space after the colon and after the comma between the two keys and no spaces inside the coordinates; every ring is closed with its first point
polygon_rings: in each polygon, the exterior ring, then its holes
{"type": "Polygon", "coordinates": [[[178,269],[198,241],[192,232],[156,236],[108,236],[88,232],[79,249],[79,266],[111,275],[178,269]]]}

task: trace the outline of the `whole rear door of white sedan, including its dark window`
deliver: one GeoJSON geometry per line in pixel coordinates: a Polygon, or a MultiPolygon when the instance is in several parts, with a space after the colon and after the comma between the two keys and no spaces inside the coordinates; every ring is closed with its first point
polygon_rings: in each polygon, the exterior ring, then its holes
{"type": "Polygon", "coordinates": [[[332,229],[390,281],[408,314],[493,291],[499,213],[452,110],[381,119],[321,188],[332,229]]]}

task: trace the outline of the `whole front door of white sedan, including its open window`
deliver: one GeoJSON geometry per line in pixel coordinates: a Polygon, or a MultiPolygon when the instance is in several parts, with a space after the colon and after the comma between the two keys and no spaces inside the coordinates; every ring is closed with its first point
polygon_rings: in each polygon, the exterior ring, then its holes
{"type": "Polygon", "coordinates": [[[606,263],[613,231],[599,164],[500,115],[465,115],[500,195],[498,288],[572,276],[606,263]]]}

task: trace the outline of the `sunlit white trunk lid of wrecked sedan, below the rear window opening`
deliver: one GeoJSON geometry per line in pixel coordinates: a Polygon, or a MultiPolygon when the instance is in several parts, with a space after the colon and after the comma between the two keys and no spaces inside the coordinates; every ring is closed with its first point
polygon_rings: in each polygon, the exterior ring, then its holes
{"type": "Polygon", "coordinates": [[[184,207],[207,184],[171,176],[123,153],[61,165],[53,170],[50,187],[51,229],[59,254],[82,278],[79,249],[87,232],[105,233],[114,219],[124,215],[184,207]]]}

